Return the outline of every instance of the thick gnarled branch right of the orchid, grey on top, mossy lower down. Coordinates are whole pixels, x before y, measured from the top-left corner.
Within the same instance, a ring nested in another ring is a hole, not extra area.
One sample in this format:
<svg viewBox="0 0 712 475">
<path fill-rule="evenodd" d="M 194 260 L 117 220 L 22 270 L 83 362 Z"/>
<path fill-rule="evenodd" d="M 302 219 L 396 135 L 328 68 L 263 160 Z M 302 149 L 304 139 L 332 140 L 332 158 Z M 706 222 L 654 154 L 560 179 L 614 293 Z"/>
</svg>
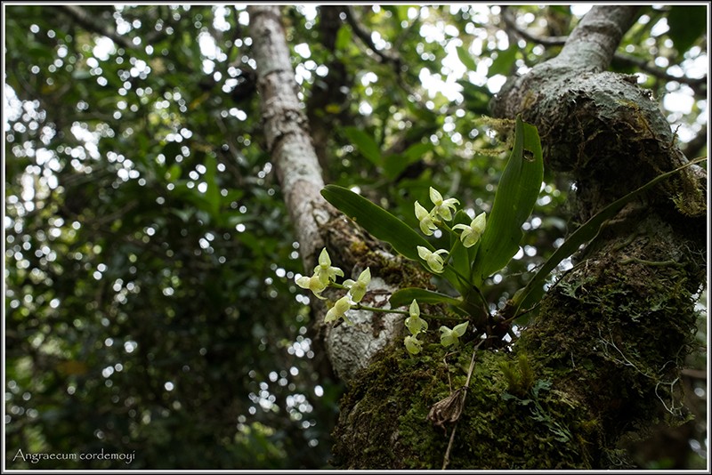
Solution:
<svg viewBox="0 0 712 475">
<path fill-rule="evenodd" d="M 594 7 L 557 58 L 512 78 L 492 103 L 496 115 L 522 113 L 537 125 L 547 166 L 572 173 L 575 221 L 685 163 L 658 104 L 635 77 L 601 72 L 634 19 L 632 7 Z M 619 213 L 587 253 L 576 256 L 586 265 L 546 295 L 541 315 L 517 342 L 519 350 L 538 352 L 547 367 L 569 366 L 559 387 L 596 414 L 606 439 L 649 423 L 651 400 L 663 386 L 667 399 L 659 401 L 680 415 L 679 405 L 669 401 L 696 321 L 692 294 L 704 285 L 704 183 L 691 167 Z M 651 310 L 651 292 L 665 295 L 662 314 Z M 653 319 L 638 326 L 638 313 Z M 595 345 L 574 343 L 585 341 Z M 577 358 L 597 360 L 595 372 L 581 368 Z M 595 389 L 579 389 L 582 380 Z M 619 395 L 621 387 L 635 391 Z"/>
</svg>

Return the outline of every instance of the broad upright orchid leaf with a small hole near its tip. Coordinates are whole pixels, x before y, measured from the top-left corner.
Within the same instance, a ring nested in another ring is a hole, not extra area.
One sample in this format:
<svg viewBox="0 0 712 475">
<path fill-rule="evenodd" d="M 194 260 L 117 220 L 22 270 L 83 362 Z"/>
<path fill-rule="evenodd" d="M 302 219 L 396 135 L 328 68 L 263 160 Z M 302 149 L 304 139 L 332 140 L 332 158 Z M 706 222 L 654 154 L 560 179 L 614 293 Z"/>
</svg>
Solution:
<svg viewBox="0 0 712 475">
<path fill-rule="evenodd" d="M 475 286 L 506 266 L 519 250 L 522 224 L 537 202 L 544 162 L 541 142 L 534 125 L 517 116 L 514 148 L 499 180 L 492 212 L 481 237 L 480 249 L 473 262 Z"/>
</svg>

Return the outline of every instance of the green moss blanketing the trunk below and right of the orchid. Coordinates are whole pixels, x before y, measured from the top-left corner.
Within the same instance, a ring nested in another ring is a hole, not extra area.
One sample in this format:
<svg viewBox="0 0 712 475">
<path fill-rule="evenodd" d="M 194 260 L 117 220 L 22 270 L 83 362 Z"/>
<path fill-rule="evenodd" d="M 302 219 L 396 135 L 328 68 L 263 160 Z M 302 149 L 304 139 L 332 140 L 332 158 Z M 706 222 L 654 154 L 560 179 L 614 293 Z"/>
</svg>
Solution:
<svg viewBox="0 0 712 475">
<path fill-rule="evenodd" d="M 611 241 L 570 272 L 514 353 L 478 351 L 450 469 L 626 467 L 623 434 L 655 423 L 663 404 L 685 420 L 674 382 L 693 342 L 699 276 L 687 262 L 650 265 L 676 252 L 674 237 L 656 229 L 654 240 Z M 396 345 L 357 375 L 334 433 L 336 466 L 441 468 L 453 424 L 427 416 L 465 383 L 473 342 L 446 356 L 437 334 L 428 338 L 417 357 Z"/>
</svg>

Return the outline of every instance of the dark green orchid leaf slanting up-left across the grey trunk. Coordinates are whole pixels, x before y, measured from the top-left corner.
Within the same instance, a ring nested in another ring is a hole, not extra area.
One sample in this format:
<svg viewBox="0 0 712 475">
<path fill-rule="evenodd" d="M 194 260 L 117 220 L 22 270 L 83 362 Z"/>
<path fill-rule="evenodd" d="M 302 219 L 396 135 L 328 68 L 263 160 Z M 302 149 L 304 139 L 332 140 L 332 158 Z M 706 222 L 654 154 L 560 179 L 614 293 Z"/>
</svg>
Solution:
<svg viewBox="0 0 712 475">
<path fill-rule="evenodd" d="M 422 262 L 417 255 L 417 246 L 435 250 L 415 229 L 351 189 L 327 185 L 321 190 L 321 195 L 374 238 L 387 242 L 397 252 L 413 261 Z"/>
</svg>

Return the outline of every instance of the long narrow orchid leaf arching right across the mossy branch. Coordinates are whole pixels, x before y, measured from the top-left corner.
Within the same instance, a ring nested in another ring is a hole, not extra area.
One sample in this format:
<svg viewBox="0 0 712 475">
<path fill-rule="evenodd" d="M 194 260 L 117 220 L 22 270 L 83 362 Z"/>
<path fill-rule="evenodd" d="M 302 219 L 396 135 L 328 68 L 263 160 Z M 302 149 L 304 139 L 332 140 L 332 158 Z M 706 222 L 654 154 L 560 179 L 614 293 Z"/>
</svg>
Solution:
<svg viewBox="0 0 712 475">
<path fill-rule="evenodd" d="M 626 196 L 620 197 L 619 199 L 611 203 L 611 205 L 608 205 L 603 208 L 603 210 L 599 211 L 598 213 L 595 213 L 594 216 L 592 216 L 588 221 L 586 221 L 583 225 L 581 225 L 578 229 L 571 233 L 570 237 L 567 238 L 563 242 L 562 246 L 556 249 L 554 254 L 552 254 L 546 260 L 544 265 L 539 268 L 537 273 L 534 275 L 533 278 L 531 278 L 527 285 L 518 290 L 516 294 L 514 294 L 514 297 L 512 299 L 514 305 L 513 315 L 517 314 L 519 308 L 522 306 L 522 302 L 526 300 L 527 296 L 534 289 L 544 285 L 546 276 L 548 276 L 549 273 L 554 270 L 556 266 L 559 265 L 559 263 L 561 263 L 564 259 L 578 251 L 578 248 L 581 245 L 593 240 L 598 235 L 598 232 L 601 229 L 601 226 L 603 225 L 604 221 L 610 220 L 621 209 L 623 209 L 623 206 L 627 205 L 632 199 L 641 195 L 644 191 L 651 189 L 651 187 L 657 184 L 659 181 L 665 180 L 668 176 L 675 174 L 690 165 L 695 165 L 700 162 L 703 162 L 704 160 L 707 160 L 707 157 L 701 157 L 696 160 L 692 160 L 691 162 L 685 165 L 677 167 L 675 170 L 672 170 L 667 173 L 662 173 L 653 178 L 651 181 L 645 183 L 639 189 L 631 191 Z"/>
</svg>

